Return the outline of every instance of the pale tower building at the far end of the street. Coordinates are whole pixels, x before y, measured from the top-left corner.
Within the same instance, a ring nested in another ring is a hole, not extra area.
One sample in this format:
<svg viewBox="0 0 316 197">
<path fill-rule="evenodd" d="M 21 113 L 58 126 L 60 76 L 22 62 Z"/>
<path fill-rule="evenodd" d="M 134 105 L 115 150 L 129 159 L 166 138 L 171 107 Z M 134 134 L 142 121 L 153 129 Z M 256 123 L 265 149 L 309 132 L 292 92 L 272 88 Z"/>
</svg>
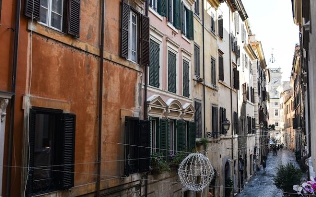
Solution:
<svg viewBox="0 0 316 197">
<path fill-rule="evenodd" d="M 268 91 L 270 96 L 269 103 L 269 125 L 275 125 L 276 132 L 280 131 L 281 114 L 280 114 L 280 93 L 277 87 L 282 82 L 282 72 L 280 66 L 276 63 L 276 59 L 271 54 L 268 68 L 270 70 L 270 82 L 268 83 Z M 278 132 L 280 134 L 280 132 Z"/>
</svg>

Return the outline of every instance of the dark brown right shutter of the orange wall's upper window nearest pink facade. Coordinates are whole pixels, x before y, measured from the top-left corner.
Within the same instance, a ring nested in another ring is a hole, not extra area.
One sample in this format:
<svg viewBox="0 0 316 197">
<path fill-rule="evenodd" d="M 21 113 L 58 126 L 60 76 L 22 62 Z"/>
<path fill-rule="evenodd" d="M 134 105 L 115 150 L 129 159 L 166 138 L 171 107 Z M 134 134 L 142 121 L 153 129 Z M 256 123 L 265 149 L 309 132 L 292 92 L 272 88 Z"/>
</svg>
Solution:
<svg viewBox="0 0 316 197">
<path fill-rule="evenodd" d="M 149 66 L 149 18 L 142 15 L 141 65 Z"/>
</svg>

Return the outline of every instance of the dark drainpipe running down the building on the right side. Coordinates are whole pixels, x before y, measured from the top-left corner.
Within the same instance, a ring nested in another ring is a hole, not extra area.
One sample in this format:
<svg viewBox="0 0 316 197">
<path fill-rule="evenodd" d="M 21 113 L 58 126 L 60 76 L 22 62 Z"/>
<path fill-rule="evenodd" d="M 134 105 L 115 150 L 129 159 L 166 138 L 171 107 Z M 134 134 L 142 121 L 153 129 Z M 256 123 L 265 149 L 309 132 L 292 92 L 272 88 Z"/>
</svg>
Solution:
<svg viewBox="0 0 316 197">
<path fill-rule="evenodd" d="M 301 159 L 301 163 L 303 164 L 303 166 L 307 169 L 307 175 L 308 175 L 308 179 L 310 179 L 310 167 L 309 165 L 305 164 L 305 160 L 311 157 L 311 151 L 312 151 L 312 140 L 311 140 L 311 108 L 310 108 L 310 81 L 309 81 L 309 71 L 308 71 L 308 62 L 307 62 L 307 66 L 306 66 L 306 72 L 307 72 L 307 107 L 308 107 L 308 154 L 304 155 Z"/>
</svg>

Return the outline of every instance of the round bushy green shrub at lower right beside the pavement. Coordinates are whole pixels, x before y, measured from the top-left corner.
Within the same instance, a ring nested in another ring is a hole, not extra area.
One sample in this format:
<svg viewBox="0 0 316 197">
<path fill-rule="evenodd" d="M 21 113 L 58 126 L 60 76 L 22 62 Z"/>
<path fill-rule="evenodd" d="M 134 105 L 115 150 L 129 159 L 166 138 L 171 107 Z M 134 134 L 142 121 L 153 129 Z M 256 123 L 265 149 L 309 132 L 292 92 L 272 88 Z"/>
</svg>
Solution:
<svg viewBox="0 0 316 197">
<path fill-rule="evenodd" d="M 293 193 L 293 185 L 299 184 L 301 177 L 301 170 L 295 167 L 293 163 L 281 164 L 276 167 L 274 181 L 278 189 L 283 190 L 283 192 Z"/>
</svg>

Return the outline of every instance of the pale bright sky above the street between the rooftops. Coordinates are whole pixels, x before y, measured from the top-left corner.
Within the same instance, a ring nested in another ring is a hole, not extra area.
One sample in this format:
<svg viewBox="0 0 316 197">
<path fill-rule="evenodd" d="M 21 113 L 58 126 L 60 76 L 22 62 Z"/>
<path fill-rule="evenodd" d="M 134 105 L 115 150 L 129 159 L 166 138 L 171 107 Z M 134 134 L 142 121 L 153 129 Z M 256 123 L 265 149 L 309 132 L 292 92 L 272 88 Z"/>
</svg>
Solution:
<svg viewBox="0 0 316 197">
<path fill-rule="evenodd" d="M 261 41 L 269 64 L 272 48 L 281 67 L 282 81 L 289 81 L 295 44 L 299 43 L 299 28 L 293 22 L 291 0 L 242 0 L 248 14 L 250 29 Z"/>
</svg>

